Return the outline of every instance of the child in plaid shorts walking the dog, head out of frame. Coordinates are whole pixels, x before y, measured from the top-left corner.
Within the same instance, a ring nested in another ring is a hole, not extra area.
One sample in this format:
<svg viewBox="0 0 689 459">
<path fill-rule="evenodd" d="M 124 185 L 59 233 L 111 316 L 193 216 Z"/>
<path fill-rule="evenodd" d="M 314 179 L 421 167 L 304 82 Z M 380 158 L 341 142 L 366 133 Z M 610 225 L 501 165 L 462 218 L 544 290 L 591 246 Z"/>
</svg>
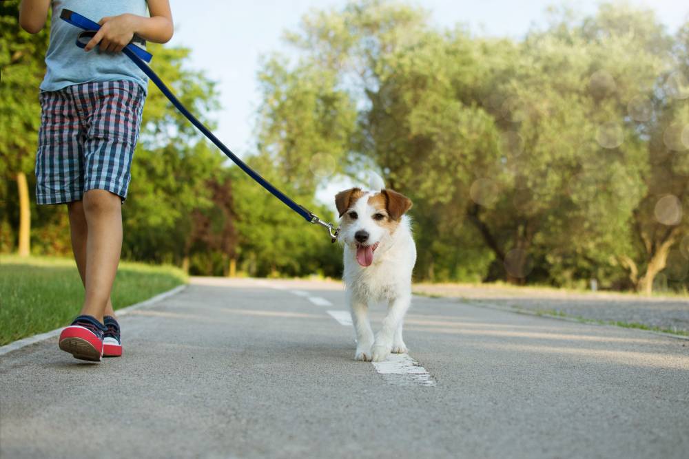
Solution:
<svg viewBox="0 0 689 459">
<path fill-rule="evenodd" d="M 60 335 L 60 349 L 100 361 L 122 354 L 110 292 L 147 86 L 145 74 L 120 51 L 134 34 L 169 41 L 172 14 L 168 0 L 22 0 L 21 28 L 39 32 L 51 6 L 36 198 L 38 204 L 67 204 L 72 251 L 86 290 L 79 317 Z M 101 29 L 84 50 L 74 44 L 81 30 L 59 19 L 63 8 L 100 19 Z"/>
</svg>

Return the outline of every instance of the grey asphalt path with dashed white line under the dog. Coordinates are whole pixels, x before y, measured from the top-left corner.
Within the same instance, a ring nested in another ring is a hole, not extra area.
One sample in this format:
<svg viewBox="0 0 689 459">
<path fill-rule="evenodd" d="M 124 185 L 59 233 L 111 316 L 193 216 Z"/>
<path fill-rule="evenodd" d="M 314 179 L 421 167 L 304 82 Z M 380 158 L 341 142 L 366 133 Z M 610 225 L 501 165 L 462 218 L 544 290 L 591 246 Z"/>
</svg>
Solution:
<svg viewBox="0 0 689 459">
<path fill-rule="evenodd" d="M 0 456 L 686 458 L 688 341 L 415 298 L 425 371 L 391 374 L 353 361 L 343 297 L 193 279 L 123 317 L 121 359 L 6 354 Z"/>
</svg>

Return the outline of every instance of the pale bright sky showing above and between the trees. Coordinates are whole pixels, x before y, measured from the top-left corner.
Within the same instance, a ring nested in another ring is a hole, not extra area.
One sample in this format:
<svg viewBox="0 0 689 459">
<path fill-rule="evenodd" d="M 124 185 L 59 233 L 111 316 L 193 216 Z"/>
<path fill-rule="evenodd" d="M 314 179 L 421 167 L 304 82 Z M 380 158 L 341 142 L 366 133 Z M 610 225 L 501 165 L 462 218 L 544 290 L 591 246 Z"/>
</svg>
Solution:
<svg viewBox="0 0 689 459">
<path fill-rule="evenodd" d="M 229 149 L 239 156 L 255 151 L 252 144 L 256 107 L 260 103 L 256 84 L 260 56 L 287 50 L 281 40 L 282 33 L 298 28 L 300 18 L 309 10 L 339 8 L 345 3 L 345 0 L 170 0 L 175 34 L 169 45 L 191 48 L 189 65 L 218 83 L 222 108 L 216 114 L 215 134 Z M 462 23 L 475 34 L 519 39 L 531 26 L 544 23 L 548 6 L 565 5 L 592 14 L 599 1 L 412 0 L 407 3 L 430 10 L 433 22 L 440 27 Z M 683 0 L 631 0 L 630 3 L 650 6 L 671 32 L 688 18 L 689 6 Z M 325 191 L 325 195 L 330 191 Z"/>
</svg>

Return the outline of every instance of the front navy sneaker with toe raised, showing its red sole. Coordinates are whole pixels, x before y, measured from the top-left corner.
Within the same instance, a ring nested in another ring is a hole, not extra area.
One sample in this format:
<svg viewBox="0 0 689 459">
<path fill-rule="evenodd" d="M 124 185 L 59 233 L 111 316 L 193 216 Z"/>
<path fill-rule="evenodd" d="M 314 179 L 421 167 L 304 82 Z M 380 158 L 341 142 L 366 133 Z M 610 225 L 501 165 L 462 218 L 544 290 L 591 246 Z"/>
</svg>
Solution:
<svg viewBox="0 0 689 459">
<path fill-rule="evenodd" d="M 75 359 L 92 362 L 101 361 L 103 356 L 103 332 L 107 328 L 92 316 L 79 316 L 72 325 L 60 334 L 60 349 L 69 352 Z"/>
</svg>

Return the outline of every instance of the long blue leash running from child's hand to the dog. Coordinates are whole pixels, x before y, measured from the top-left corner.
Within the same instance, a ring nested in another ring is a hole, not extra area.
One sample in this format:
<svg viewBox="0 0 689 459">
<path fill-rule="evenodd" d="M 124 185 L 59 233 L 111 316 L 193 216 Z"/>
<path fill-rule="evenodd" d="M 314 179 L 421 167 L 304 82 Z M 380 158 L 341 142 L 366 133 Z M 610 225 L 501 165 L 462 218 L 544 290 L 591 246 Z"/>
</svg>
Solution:
<svg viewBox="0 0 689 459">
<path fill-rule="evenodd" d="M 81 32 L 76 39 L 76 45 L 81 48 L 85 47 L 96 34 L 96 31 L 101 28 L 101 25 L 99 23 L 91 21 L 90 19 L 81 16 L 81 14 L 77 14 L 71 10 L 63 9 L 60 14 L 60 18 L 86 31 Z M 291 200 L 289 197 L 287 197 L 287 195 L 285 195 L 285 193 L 282 193 L 282 191 L 278 190 L 273 184 L 265 180 L 265 178 L 261 177 L 260 174 L 254 171 L 254 169 L 251 169 L 251 167 L 249 167 L 245 162 L 240 160 L 238 156 L 232 153 L 232 151 L 230 151 L 229 148 L 225 147 L 223 142 L 220 142 L 220 140 L 218 140 L 218 138 L 214 136 L 214 134 L 207 127 L 205 127 L 205 125 L 203 125 L 203 122 L 200 122 L 196 118 L 196 116 L 194 116 L 191 112 L 189 112 L 189 110 L 186 109 L 184 105 L 182 105 L 180 100 L 176 98 L 172 91 L 170 91 L 170 89 L 165 85 L 165 83 L 163 83 L 163 81 L 156 74 L 156 72 L 154 72 L 151 69 L 151 67 L 147 65 L 147 63 L 150 62 L 151 58 L 153 57 L 152 54 L 150 54 L 150 52 L 143 50 L 142 48 L 134 45 L 133 43 L 130 43 L 127 46 L 125 46 L 122 52 L 126 54 L 127 57 L 130 58 L 132 62 L 134 62 L 136 66 L 140 68 L 141 71 L 148 76 L 148 78 L 151 79 L 151 81 L 153 81 L 153 83 L 156 84 L 158 89 L 160 89 L 161 92 L 165 94 L 165 97 L 167 97 L 167 99 L 170 102 L 172 102 L 172 105 L 174 105 L 176 109 L 178 109 L 181 112 L 181 114 L 183 114 L 187 118 L 187 120 L 192 122 L 192 125 L 196 126 L 196 128 L 199 131 L 201 131 L 201 133 L 203 133 L 204 136 L 209 138 L 209 140 L 211 140 L 211 142 L 213 142 L 216 145 L 216 147 L 220 149 L 220 151 L 225 153 L 227 158 L 234 161 L 234 163 L 237 164 L 237 166 L 240 169 L 245 171 L 245 173 L 247 173 L 249 177 L 256 180 L 256 182 L 258 182 L 260 186 L 263 186 L 263 188 L 267 189 L 272 195 L 274 195 L 280 201 L 285 203 L 290 209 L 301 215 L 301 217 L 303 217 L 307 222 L 318 224 L 320 226 L 325 226 L 325 228 L 327 228 L 328 230 L 332 242 L 336 241 L 338 237 L 339 228 L 336 228 L 331 223 L 323 222 L 317 215 L 310 212 L 304 206 L 300 206 L 299 204 Z"/>
</svg>

